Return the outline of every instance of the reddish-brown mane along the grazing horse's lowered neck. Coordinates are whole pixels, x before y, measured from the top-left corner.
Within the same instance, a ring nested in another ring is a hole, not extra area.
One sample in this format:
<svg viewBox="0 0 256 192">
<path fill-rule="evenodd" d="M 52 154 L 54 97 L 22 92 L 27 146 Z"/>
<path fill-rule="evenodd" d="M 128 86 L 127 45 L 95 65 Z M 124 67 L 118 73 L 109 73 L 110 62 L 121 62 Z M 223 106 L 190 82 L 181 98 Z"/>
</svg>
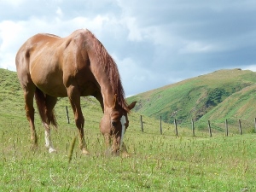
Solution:
<svg viewBox="0 0 256 192">
<path fill-rule="evenodd" d="M 118 67 L 102 43 L 92 33 L 91 35 L 93 38 L 97 61 L 102 67 L 104 67 L 104 71 L 108 75 L 108 80 L 113 91 L 112 94 L 113 96 L 117 94 L 117 102 L 119 103 L 119 106 L 124 108 L 125 111 L 129 113 L 130 109 L 128 108 L 127 102 L 125 101 L 125 90 L 120 79 Z"/>
</svg>

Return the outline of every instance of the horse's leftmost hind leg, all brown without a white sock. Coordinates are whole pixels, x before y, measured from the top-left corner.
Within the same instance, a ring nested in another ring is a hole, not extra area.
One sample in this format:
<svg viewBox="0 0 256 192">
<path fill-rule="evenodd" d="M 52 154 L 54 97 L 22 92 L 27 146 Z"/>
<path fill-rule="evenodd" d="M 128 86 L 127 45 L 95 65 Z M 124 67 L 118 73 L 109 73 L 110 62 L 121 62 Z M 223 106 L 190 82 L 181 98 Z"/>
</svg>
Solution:
<svg viewBox="0 0 256 192">
<path fill-rule="evenodd" d="M 35 93 L 35 89 L 36 87 L 34 84 L 26 84 L 23 86 L 26 118 L 28 119 L 30 128 L 31 128 L 32 148 L 38 147 L 38 136 L 37 136 L 35 124 L 34 124 L 35 109 L 33 108 L 33 96 Z"/>
</svg>

